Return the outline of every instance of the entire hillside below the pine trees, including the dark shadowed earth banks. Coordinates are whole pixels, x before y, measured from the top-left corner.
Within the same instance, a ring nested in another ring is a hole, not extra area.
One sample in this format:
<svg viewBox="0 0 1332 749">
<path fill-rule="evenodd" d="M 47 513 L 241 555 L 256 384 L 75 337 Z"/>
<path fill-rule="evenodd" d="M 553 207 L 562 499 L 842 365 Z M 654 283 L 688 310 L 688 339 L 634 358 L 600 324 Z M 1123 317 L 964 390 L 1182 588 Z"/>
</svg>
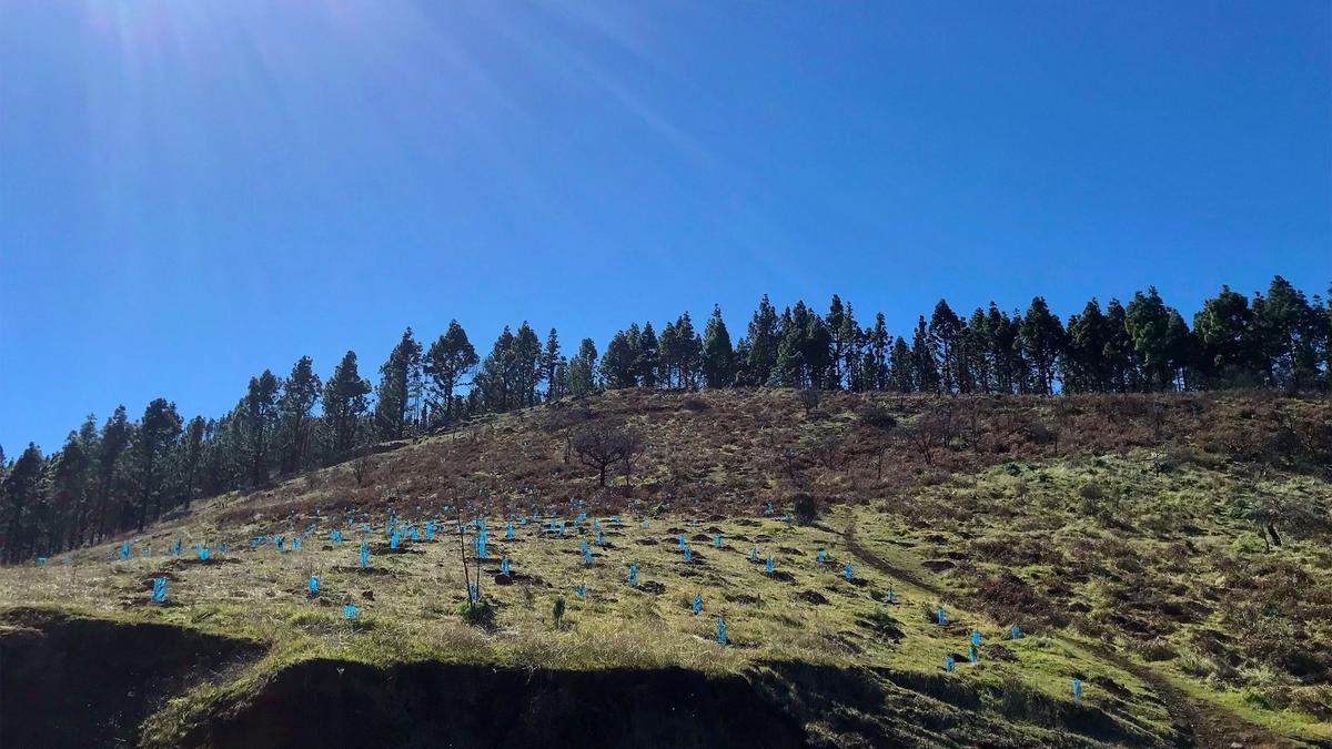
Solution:
<svg viewBox="0 0 1332 749">
<path fill-rule="evenodd" d="M 378 450 L 0 569 L 0 744 L 1332 744 L 1325 398 L 623 389 Z"/>
</svg>

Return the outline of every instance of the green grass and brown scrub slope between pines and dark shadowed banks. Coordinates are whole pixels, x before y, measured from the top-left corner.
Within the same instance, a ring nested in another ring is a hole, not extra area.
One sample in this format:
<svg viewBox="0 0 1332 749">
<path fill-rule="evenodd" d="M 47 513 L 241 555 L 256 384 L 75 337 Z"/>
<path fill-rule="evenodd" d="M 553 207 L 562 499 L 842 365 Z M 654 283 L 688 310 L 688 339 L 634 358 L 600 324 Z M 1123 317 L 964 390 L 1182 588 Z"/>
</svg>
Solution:
<svg viewBox="0 0 1332 749">
<path fill-rule="evenodd" d="M 935 406 L 926 398 L 876 401 L 903 422 Z M 1329 634 L 1327 538 L 1292 536 L 1264 553 L 1252 528 L 1235 517 L 1255 492 L 1313 497 L 1327 517 L 1323 480 L 1288 472 L 1299 468 L 1293 462 L 1275 469 L 1280 460 L 1265 460 L 1261 472 L 1255 464 L 1271 454 L 1279 425 L 1295 420 L 1301 433 L 1299 420 L 1325 420 L 1327 402 L 1078 398 L 1066 408 L 978 398 L 959 402 L 963 434 L 928 462 L 910 441 L 863 425 L 858 413 L 867 405 L 836 396 L 803 414 L 790 393 L 611 393 L 509 414 L 377 456 L 361 485 L 344 465 L 221 497 L 136 538 L 136 553 L 153 549 L 148 558 L 113 561 L 112 546 L 101 546 L 73 554 L 69 565 L 0 570 L 0 600 L 168 621 L 272 645 L 238 678 L 205 682 L 152 718 L 148 736 L 164 744 L 196 712 L 224 709 L 284 664 L 316 656 L 575 669 L 685 665 L 750 674 L 774 661 L 868 666 L 879 670 L 867 678 L 883 685 L 894 705 L 906 705 L 910 696 L 894 685 L 914 684 L 928 697 L 939 697 L 940 688 L 902 674 L 935 678 L 947 654 L 966 653 L 974 626 L 987 642 L 982 662 L 963 660 L 948 681 L 978 694 L 984 714 L 1004 724 L 1015 742 L 1056 741 L 1048 726 L 1060 721 L 1048 716 L 1074 709 L 1075 674 L 1087 682 L 1083 708 L 1103 710 L 1124 732 L 1169 734 L 1181 708 L 1158 700 L 1159 680 L 1168 680 L 1203 718 L 1219 720 L 1213 728 L 1223 733 L 1256 724 L 1259 741 L 1332 740 L 1320 713 L 1328 708 L 1325 673 L 1291 673 L 1303 662 L 1292 648 Z M 567 429 L 595 418 L 645 430 L 649 449 L 627 489 L 590 490 L 589 472 L 563 462 Z M 831 460 L 821 449 L 829 444 Z M 767 501 L 778 516 L 786 512 L 783 489 L 793 478 L 843 502 L 811 528 L 763 516 Z M 1088 484 L 1100 490 L 1084 490 Z M 490 497 L 486 508 L 453 498 L 482 493 Z M 571 520 L 570 496 L 583 497 L 589 514 L 606 524 L 609 548 L 594 546 L 593 565 L 577 553 L 579 540 L 595 538 L 587 526 L 553 537 L 519 525 L 514 542 L 502 540 L 507 510 L 530 514 L 535 504 L 543 517 Z M 410 553 L 385 549 L 388 505 L 424 520 L 464 502 L 490 517 L 496 561 L 488 570 L 497 572 L 507 554 L 517 573 L 535 578 L 513 586 L 485 578 L 484 592 L 501 606 L 494 632 L 452 613 L 465 597 L 456 537 L 410 545 Z M 348 532 L 341 545 L 326 541 L 349 506 L 370 512 L 372 566 L 380 573 L 356 569 L 360 533 Z M 314 508 L 322 512 L 316 516 Z M 611 512 L 625 517 L 623 528 L 606 522 Z M 290 536 L 310 524 L 298 552 L 249 548 L 254 536 Z M 858 553 L 848 548 L 848 529 Z M 702 561 L 682 562 L 679 532 Z M 713 548 L 717 532 L 729 548 Z M 221 538 L 232 550 L 210 565 L 163 558 L 174 538 L 186 548 Z M 771 553 L 793 580 L 766 577 L 749 561 L 753 548 Z M 818 549 L 834 561 L 819 566 Z M 665 593 L 626 586 L 629 561 L 639 565 L 641 584 L 661 582 Z M 855 564 L 858 584 L 839 576 L 844 561 Z M 173 577 L 173 605 L 144 605 L 160 573 Z M 313 598 L 305 594 L 310 573 L 322 581 Z M 573 594 L 578 582 L 589 586 L 586 600 Z M 883 601 L 890 588 L 896 605 Z M 698 617 L 689 609 L 695 592 L 705 600 Z M 810 593 L 827 602 L 810 602 Z M 555 597 L 569 605 L 563 629 L 550 621 Z M 340 620 L 344 602 L 364 608 L 357 624 Z M 948 628 L 926 620 L 924 609 L 936 604 L 948 608 Z M 715 644 L 718 616 L 735 646 Z M 995 648 L 1015 621 L 1028 636 Z M 883 636 L 886 625 L 900 630 L 900 641 Z M 946 702 L 926 709 L 952 714 Z M 830 742 L 864 734 L 856 721 L 875 717 L 855 713 L 807 716 L 811 733 Z M 948 730 L 920 740 L 967 740 Z"/>
</svg>

